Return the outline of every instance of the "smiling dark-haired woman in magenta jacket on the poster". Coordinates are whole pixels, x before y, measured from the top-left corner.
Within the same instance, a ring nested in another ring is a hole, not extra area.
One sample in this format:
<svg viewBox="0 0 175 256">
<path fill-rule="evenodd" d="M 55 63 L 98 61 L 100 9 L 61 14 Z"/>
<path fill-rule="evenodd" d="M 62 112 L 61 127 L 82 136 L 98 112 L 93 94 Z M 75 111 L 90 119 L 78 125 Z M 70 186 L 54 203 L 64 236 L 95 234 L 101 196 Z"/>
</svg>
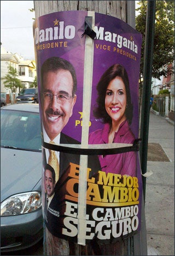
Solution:
<svg viewBox="0 0 175 256">
<path fill-rule="evenodd" d="M 94 116 L 104 123 L 103 129 L 89 135 L 89 144 L 133 143 L 129 124 L 132 122 L 132 103 L 129 78 L 120 64 L 110 66 L 97 84 L 98 98 Z M 106 173 L 136 176 L 136 152 L 99 155 L 101 169 Z"/>
</svg>

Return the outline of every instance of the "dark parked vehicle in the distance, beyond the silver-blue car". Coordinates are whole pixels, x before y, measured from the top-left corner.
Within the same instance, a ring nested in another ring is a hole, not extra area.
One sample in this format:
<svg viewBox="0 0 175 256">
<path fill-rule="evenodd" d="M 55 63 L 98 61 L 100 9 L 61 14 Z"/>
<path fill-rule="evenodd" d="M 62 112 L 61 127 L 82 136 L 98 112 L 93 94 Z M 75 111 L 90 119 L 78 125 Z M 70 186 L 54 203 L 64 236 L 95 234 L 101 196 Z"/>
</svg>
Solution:
<svg viewBox="0 0 175 256">
<path fill-rule="evenodd" d="M 38 88 L 22 89 L 16 97 L 16 103 L 38 103 Z"/>
</svg>

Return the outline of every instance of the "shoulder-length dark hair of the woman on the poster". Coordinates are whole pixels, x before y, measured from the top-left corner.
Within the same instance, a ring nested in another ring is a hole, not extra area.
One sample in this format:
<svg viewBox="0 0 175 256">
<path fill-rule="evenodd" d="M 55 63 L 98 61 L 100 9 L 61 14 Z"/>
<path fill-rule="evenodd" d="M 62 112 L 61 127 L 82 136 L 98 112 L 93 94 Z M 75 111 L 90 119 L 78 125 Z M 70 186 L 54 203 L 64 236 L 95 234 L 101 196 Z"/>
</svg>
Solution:
<svg viewBox="0 0 175 256">
<path fill-rule="evenodd" d="M 126 115 L 127 121 L 129 122 L 129 124 L 131 124 L 132 116 L 133 116 L 133 105 L 131 103 L 129 78 L 128 78 L 126 70 L 120 64 L 114 64 L 113 66 L 110 66 L 109 69 L 106 70 L 103 73 L 102 77 L 100 78 L 100 81 L 97 84 L 98 98 L 96 100 L 97 106 L 93 111 L 94 116 L 96 118 L 101 119 L 103 123 L 112 124 L 111 117 L 106 112 L 105 96 L 106 96 L 106 90 L 107 90 L 108 84 L 115 77 L 120 77 L 125 84 L 126 103 L 127 103 L 125 115 Z"/>
</svg>

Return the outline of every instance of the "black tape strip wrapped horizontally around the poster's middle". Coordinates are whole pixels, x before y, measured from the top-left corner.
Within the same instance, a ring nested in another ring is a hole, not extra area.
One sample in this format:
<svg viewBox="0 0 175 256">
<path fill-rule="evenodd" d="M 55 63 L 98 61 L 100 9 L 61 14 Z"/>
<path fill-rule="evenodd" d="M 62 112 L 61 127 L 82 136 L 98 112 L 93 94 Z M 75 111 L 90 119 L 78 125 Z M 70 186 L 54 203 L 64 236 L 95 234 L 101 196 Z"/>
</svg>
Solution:
<svg viewBox="0 0 175 256">
<path fill-rule="evenodd" d="M 132 146 L 115 147 L 114 149 L 77 149 L 75 147 L 65 147 L 65 146 L 45 143 L 43 141 L 43 147 L 45 147 L 46 149 L 51 149 L 55 151 L 65 152 L 65 153 L 71 153 L 75 155 L 95 156 L 95 155 L 113 155 L 113 154 L 125 153 L 130 151 L 139 151 L 140 142 L 141 142 L 141 139 L 136 139 Z"/>
</svg>

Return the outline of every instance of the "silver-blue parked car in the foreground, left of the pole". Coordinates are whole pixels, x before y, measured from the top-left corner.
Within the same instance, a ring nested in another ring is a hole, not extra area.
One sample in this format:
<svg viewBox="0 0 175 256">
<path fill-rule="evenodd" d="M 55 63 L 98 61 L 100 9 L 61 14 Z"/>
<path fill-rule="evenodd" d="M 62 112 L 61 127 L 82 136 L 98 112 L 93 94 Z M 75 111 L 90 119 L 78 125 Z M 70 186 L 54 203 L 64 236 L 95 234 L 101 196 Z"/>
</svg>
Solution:
<svg viewBox="0 0 175 256">
<path fill-rule="evenodd" d="M 38 104 L 1 108 L 1 252 L 43 237 L 40 134 Z"/>
</svg>

